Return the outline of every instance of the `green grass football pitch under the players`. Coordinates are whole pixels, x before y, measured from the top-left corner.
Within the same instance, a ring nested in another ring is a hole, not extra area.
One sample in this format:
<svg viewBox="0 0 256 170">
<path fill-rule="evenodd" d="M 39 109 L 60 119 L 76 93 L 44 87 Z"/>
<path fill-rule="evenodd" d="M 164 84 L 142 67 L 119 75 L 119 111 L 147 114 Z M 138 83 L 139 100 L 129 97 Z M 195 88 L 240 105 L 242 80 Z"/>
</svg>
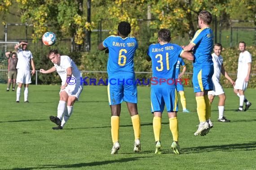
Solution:
<svg viewBox="0 0 256 170">
<path fill-rule="evenodd" d="M 207 136 L 194 136 L 199 123 L 192 88 L 185 88 L 187 108 L 178 113 L 181 154 L 171 150 L 168 116 L 162 119 L 163 154 L 155 155 L 150 87 L 138 87 L 141 117 L 141 153 L 133 153 L 133 130 L 126 104 L 122 104 L 117 155 L 111 155 L 110 108 L 106 86 L 85 86 L 73 115 L 63 130 L 54 131 L 49 115 L 57 115 L 59 86 L 31 85 L 30 103 L 16 103 L 16 92 L 6 92 L 0 84 L 0 170 L 57 169 L 256 169 L 255 89 L 247 89 L 252 106 L 234 112 L 238 97 L 225 89 L 225 116 L 230 123 L 217 122 L 218 98 L 212 104 L 214 128 Z M 22 88 L 23 91 L 23 88 Z M 181 105 L 180 109 L 181 109 Z"/>
</svg>

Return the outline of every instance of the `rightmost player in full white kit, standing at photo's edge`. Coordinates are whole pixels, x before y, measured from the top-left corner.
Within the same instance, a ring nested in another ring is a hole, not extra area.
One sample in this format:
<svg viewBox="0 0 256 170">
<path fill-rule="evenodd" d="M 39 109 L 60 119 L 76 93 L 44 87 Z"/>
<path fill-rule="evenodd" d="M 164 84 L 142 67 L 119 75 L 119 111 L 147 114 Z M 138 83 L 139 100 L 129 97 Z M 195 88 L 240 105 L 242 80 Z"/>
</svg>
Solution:
<svg viewBox="0 0 256 170">
<path fill-rule="evenodd" d="M 239 108 L 236 111 L 246 111 L 252 106 L 244 95 L 247 89 L 248 81 L 252 70 L 252 55 L 245 50 L 246 44 L 241 41 L 238 43 L 239 51 L 241 52 L 238 59 L 237 79 L 235 81 L 234 93 L 239 97 Z M 243 102 L 245 102 L 245 109 L 243 110 Z"/>
</svg>

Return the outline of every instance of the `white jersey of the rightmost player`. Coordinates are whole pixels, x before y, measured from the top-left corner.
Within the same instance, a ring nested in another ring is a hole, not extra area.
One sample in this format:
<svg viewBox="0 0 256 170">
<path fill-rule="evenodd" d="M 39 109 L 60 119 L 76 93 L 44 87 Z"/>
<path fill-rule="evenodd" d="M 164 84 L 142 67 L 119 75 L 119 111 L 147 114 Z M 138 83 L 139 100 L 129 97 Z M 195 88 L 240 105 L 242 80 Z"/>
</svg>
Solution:
<svg viewBox="0 0 256 170">
<path fill-rule="evenodd" d="M 239 55 L 237 78 L 245 78 L 248 73 L 248 63 L 252 63 L 252 55 L 248 51 L 243 51 Z"/>
</svg>

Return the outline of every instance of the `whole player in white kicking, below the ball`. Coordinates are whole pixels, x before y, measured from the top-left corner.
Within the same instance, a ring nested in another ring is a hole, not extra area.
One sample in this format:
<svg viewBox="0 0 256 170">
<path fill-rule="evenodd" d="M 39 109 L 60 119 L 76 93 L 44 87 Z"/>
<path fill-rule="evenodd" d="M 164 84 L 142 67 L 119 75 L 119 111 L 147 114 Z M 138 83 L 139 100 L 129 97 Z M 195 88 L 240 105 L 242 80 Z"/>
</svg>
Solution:
<svg viewBox="0 0 256 170">
<path fill-rule="evenodd" d="M 57 116 L 50 116 L 50 120 L 57 124 L 57 127 L 53 127 L 53 129 L 58 130 L 62 129 L 70 118 L 73 112 L 73 105 L 79 99 L 83 90 L 83 84 L 80 84 L 82 73 L 69 56 L 60 55 L 55 49 L 49 51 L 48 57 L 54 66 L 46 71 L 40 69 L 40 72 L 47 74 L 57 71 L 62 79 Z"/>
</svg>

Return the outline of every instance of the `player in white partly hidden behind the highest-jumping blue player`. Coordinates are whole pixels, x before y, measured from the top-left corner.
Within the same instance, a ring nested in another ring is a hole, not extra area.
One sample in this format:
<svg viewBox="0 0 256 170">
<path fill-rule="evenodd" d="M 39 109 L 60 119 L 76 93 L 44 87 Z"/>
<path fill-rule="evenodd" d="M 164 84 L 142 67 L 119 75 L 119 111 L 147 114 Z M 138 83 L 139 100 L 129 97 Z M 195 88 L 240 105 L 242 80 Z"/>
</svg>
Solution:
<svg viewBox="0 0 256 170">
<path fill-rule="evenodd" d="M 213 102 L 213 99 L 215 96 L 219 96 L 219 117 L 218 122 L 230 122 L 230 120 L 226 119 L 224 116 L 224 106 L 225 106 L 225 92 L 220 84 L 220 78 L 221 74 L 226 77 L 230 81 L 230 83 L 234 86 L 235 82 L 230 78 L 228 73 L 226 72 L 224 66 L 223 66 L 223 57 L 221 56 L 222 51 L 222 45 L 220 43 L 216 43 L 213 46 L 212 53 L 212 61 L 213 61 L 213 67 L 214 67 L 214 73 L 212 76 L 212 83 L 213 83 L 213 90 L 208 91 L 208 98 L 210 102 Z"/>
</svg>

